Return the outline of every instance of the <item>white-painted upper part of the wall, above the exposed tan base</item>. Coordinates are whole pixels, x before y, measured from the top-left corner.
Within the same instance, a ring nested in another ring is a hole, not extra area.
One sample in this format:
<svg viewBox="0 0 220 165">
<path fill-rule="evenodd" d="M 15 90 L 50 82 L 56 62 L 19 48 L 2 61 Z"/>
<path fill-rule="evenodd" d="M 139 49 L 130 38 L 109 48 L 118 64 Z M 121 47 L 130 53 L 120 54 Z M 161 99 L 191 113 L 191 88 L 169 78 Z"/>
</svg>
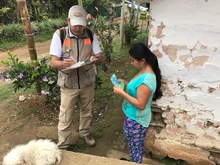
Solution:
<svg viewBox="0 0 220 165">
<path fill-rule="evenodd" d="M 200 118 L 220 122 L 219 5 L 218 0 L 151 2 L 150 48 L 169 80 L 157 105 L 202 110 Z"/>
</svg>

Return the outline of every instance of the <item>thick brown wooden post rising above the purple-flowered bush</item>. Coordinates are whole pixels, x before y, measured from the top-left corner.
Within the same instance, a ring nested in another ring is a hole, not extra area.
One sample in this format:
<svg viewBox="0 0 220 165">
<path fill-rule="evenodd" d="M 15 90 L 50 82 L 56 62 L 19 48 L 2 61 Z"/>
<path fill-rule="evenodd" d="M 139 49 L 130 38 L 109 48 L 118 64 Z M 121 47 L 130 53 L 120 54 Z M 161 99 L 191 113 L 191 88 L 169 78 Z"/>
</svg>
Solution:
<svg viewBox="0 0 220 165">
<path fill-rule="evenodd" d="M 17 0 L 18 10 L 21 15 L 21 20 L 24 28 L 24 34 L 26 36 L 28 51 L 31 60 L 37 60 L 37 53 L 34 44 L 34 34 L 31 29 L 30 18 L 28 14 L 26 0 Z"/>
</svg>

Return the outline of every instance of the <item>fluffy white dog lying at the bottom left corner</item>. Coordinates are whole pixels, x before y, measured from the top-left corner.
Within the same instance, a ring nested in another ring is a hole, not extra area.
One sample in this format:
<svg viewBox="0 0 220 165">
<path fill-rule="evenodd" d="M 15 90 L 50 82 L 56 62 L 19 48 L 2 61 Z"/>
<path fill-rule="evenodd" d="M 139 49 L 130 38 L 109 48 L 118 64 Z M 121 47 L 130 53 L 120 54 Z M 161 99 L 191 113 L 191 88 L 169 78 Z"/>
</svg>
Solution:
<svg viewBox="0 0 220 165">
<path fill-rule="evenodd" d="M 54 165 L 61 161 L 61 154 L 49 139 L 32 140 L 13 148 L 4 156 L 2 165 Z"/>
</svg>

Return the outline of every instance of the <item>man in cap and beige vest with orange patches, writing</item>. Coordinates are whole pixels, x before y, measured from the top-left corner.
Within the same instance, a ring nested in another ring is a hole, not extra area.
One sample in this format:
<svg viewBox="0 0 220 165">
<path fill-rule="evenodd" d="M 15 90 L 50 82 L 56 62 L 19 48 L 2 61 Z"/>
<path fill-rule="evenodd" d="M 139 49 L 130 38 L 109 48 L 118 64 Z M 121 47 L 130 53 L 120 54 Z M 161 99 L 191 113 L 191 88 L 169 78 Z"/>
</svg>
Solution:
<svg viewBox="0 0 220 165">
<path fill-rule="evenodd" d="M 58 123 L 58 147 L 67 149 L 70 145 L 71 123 L 76 103 L 79 103 L 79 135 L 89 146 L 95 145 L 90 134 L 92 104 L 94 99 L 95 65 L 102 63 L 101 49 L 96 34 L 91 36 L 86 29 L 86 11 L 82 6 L 72 6 L 65 27 L 65 39 L 61 41 L 58 29 L 50 46 L 51 66 L 58 69 L 58 85 L 61 91 L 61 105 Z M 91 31 L 90 31 L 91 32 Z M 66 69 L 76 62 L 87 63 L 75 69 Z"/>
</svg>

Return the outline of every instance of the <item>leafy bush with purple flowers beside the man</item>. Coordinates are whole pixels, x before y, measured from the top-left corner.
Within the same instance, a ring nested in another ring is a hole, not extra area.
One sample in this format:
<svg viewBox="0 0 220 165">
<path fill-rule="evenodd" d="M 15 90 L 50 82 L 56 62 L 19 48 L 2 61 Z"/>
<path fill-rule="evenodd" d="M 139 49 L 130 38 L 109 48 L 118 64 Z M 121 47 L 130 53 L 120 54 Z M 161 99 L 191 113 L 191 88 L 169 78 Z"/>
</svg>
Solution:
<svg viewBox="0 0 220 165">
<path fill-rule="evenodd" d="M 16 55 L 8 51 L 8 60 L 2 61 L 7 69 L 1 74 L 2 78 L 11 81 L 14 91 L 20 88 L 28 89 L 36 83 L 41 87 L 41 95 L 51 105 L 59 103 L 59 87 L 57 86 L 57 70 L 51 68 L 47 58 L 24 63 Z"/>
</svg>

